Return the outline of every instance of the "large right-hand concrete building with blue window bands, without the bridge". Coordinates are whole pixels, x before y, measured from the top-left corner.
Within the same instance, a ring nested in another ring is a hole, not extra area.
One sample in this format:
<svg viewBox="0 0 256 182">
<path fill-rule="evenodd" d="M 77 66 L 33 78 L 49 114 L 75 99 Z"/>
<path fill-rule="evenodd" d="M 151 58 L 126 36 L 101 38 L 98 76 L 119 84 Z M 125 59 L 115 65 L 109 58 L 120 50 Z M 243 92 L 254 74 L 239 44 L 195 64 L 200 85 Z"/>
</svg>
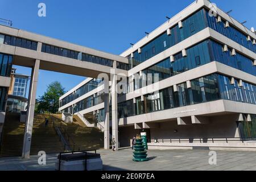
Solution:
<svg viewBox="0 0 256 182">
<path fill-rule="evenodd" d="M 208 1 L 192 3 L 121 54 L 129 65 L 122 65 L 128 71 L 127 93 L 117 98 L 120 147 L 130 146 L 141 130 L 151 148 L 191 148 L 200 146 L 200 138 L 207 147 L 226 138 L 255 139 L 255 32 L 218 8 L 214 15 L 210 7 Z M 143 85 L 148 74 L 152 82 Z M 97 83 L 88 78 L 69 90 L 59 111 L 104 126 Z"/>
</svg>

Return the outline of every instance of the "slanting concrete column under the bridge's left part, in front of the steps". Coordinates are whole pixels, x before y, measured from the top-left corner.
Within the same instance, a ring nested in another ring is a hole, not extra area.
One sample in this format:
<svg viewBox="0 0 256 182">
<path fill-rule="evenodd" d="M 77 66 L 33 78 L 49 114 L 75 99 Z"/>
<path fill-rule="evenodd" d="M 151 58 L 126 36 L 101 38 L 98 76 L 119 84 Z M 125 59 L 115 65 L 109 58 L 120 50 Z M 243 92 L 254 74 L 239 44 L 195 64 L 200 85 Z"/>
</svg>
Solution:
<svg viewBox="0 0 256 182">
<path fill-rule="evenodd" d="M 39 66 L 40 66 L 40 60 L 36 60 L 35 65 L 32 68 L 32 75 L 31 75 L 31 81 L 30 81 L 30 94 L 28 96 L 27 121 L 26 121 L 24 140 L 23 140 L 22 157 L 25 159 L 30 158 L 30 146 L 31 146 L 33 122 L 34 122 L 36 87 L 38 85 Z"/>
</svg>

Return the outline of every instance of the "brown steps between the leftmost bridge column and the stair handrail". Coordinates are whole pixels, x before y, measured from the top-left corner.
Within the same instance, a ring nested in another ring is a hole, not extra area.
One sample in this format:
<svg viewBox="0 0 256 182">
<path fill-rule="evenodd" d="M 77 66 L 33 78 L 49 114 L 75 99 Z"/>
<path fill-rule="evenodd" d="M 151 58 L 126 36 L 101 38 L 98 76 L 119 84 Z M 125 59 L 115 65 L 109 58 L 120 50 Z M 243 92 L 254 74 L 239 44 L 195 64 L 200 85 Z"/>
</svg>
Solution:
<svg viewBox="0 0 256 182">
<path fill-rule="evenodd" d="M 45 127 L 45 118 L 49 118 L 48 127 Z M 31 140 L 31 155 L 37 155 L 39 151 L 45 151 L 46 154 L 63 152 L 64 145 L 60 142 L 51 117 L 44 114 L 36 114 Z"/>
</svg>

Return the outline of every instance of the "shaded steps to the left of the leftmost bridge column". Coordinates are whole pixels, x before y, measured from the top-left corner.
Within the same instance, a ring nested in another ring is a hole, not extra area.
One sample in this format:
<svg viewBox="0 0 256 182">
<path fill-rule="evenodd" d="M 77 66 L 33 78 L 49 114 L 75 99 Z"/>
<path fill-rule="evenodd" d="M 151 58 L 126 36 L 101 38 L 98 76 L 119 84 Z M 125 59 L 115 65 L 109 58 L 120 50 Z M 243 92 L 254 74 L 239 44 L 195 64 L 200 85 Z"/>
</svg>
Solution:
<svg viewBox="0 0 256 182">
<path fill-rule="evenodd" d="M 0 157 L 22 155 L 24 129 L 25 123 L 19 122 L 19 114 L 6 114 L 0 145 Z"/>
</svg>

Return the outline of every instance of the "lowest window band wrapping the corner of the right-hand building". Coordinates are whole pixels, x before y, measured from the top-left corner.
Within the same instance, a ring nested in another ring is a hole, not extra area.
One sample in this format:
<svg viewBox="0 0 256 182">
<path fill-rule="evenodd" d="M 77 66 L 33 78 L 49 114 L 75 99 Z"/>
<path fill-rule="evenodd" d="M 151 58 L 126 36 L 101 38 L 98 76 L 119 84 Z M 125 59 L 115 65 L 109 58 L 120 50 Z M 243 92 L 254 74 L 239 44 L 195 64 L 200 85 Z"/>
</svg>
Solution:
<svg viewBox="0 0 256 182">
<path fill-rule="evenodd" d="M 191 88 L 184 82 L 177 85 L 177 92 L 170 86 L 143 97 L 144 101 L 141 97 L 135 98 L 135 104 L 133 100 L 119 103 L 118 117 L 130 117 L 220 99 L 256 104 L 256 85 L 243 82 L 243 86 L 238 86 L 238 80 L 235 79 L 235 84 L 232 84 L 230 77 L 215 73 L 192 80 Z"/>
</svg>

